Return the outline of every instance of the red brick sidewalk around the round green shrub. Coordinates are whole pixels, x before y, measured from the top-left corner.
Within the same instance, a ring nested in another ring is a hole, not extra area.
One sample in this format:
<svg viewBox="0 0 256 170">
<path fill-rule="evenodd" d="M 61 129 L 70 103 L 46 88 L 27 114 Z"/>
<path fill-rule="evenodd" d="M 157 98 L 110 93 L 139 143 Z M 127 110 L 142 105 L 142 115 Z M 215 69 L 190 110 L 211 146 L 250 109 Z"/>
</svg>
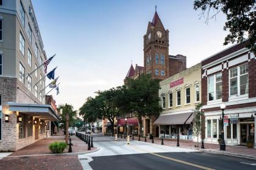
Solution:
<svg viewBox="0 0 256 170">
<path fill-rule="evenodd" d="M 65 149 L 64 154 L 52 154 L 49 150 L 49 144 L 54 141 L 65 141 L 63 134 L 44 138 L 37 141 L 23 149 L 20 149 L 13 154 L 8 155 L 0 160 L 0 167 L 10 170 L 21 169 L 83 169 L 77 157 L 79 154 L 96 151 L 98 148 L 91 148 L 87 150 L 88 145 L 77 138 L 75 135 L 70 136 L 73 143 L 73 152 L 68 155 L 68 148 Z"/>
</svg>

